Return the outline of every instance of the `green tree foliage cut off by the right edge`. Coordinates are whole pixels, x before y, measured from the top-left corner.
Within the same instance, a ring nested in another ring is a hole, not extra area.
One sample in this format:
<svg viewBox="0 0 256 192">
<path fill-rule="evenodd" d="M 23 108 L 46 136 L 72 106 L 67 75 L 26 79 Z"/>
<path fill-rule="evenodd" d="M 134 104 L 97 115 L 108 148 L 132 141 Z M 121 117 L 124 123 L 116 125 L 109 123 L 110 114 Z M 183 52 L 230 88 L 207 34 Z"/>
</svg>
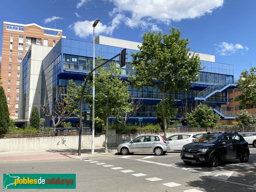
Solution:
<svg viewBox="0 0 256 192">
<path fill-rule="evenodd" d="M 256 67 L 252 67 L 250 71 L 243 70 L 241 75 L 243 78 L 238 80 L 237 86 L 240 90 L 244 90 L 241 95 L 236 96 L 235 101 L 239 101 L 240 106 L 247 107 L 256 104 Z"/>
</svg>

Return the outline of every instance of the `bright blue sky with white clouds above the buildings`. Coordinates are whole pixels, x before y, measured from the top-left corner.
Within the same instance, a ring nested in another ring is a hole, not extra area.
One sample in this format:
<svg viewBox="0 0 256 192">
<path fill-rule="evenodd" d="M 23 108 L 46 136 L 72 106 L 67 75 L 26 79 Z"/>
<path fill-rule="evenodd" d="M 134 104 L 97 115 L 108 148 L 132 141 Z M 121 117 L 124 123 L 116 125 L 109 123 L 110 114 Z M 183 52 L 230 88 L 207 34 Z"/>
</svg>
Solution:
<svg viewBox="0 0 256 192">
<path fill-rule="evenodd" d="M 0 18 L 1 25 L 7 21 L 46 28 L 54 28 L 56 20 L 64 36 L 87 42 L 93 40 L 95 19 L 100 20 L 95 37 L 135 42 L 142 42 L 149 30 L 165 34 L 179 27 L 181 37 L 189 38 L 190 51 L 234 65 L 239 78 L 243 69 L 256 66 L 255 8 L 255 0 L 12 0 L 1 1 Z"/>
</svg>

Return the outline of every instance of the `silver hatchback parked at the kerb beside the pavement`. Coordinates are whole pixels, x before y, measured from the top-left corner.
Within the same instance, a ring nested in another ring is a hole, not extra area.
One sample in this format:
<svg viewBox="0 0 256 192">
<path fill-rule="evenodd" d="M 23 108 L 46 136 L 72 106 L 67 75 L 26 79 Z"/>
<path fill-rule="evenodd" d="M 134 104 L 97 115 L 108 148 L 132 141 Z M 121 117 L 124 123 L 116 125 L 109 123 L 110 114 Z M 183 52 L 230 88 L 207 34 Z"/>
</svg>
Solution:
<svg viewBox="0 0 256 192">
<path fill-rule="evenodd" d="M 170 142 L 164 135 L 141 135 L 117 147 L 117 152 L 121 155 L 154 152 L 157 156 L 160 156 L 169 150 Z"/>
</svg>

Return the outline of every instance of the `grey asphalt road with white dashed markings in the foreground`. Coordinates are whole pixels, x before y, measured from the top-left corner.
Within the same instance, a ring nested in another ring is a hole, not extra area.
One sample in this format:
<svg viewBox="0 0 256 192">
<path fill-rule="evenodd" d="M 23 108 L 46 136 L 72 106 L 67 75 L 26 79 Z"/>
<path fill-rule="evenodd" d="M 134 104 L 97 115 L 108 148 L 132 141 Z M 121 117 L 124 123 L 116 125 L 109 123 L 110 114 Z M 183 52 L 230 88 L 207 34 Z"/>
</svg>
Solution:
<svg viewBox="0 0 256 192">
<path fill-rule="evenodd" d="M 256 148 L 253 147 L 250 147 L 247 163 L 236 159 L 221 162 L 215 168 L 200 163 L 186 165 L 178 151 L 164 156 L 155 156 L 154 153 L 116 154 L 88 159 L 1 162 L 0 165 L 0 180 L 3 180 L 3 173 L 76 173 L 76 189 L 47 191 L 256 191 Z"/>
</svg>

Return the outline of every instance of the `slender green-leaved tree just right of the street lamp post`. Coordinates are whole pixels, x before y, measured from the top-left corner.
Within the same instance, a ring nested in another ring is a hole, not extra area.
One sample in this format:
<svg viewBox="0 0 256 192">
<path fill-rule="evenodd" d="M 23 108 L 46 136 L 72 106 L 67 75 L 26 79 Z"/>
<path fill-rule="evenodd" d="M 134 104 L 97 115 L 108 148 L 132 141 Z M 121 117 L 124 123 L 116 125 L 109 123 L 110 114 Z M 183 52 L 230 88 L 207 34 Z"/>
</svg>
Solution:
<svg viewBox="0 0 256 192">
<path fill-rule="evenodd" d="M 97 60 L 97 62 L 99 62 Z M 95 76 L 95 122 L 105 123 L 105 153 L 108 152 L 108 118 L 116 116 L 127 106 L 131 98 L 128 92 L 127 81 L 121 79 L 121 70 L 114 63 L 110 68 L 99 68 Z M 92 82 L 90 82 L 92 84 Z M 92 100 L 89 102 L 92 111 Z"/>
</svg>

